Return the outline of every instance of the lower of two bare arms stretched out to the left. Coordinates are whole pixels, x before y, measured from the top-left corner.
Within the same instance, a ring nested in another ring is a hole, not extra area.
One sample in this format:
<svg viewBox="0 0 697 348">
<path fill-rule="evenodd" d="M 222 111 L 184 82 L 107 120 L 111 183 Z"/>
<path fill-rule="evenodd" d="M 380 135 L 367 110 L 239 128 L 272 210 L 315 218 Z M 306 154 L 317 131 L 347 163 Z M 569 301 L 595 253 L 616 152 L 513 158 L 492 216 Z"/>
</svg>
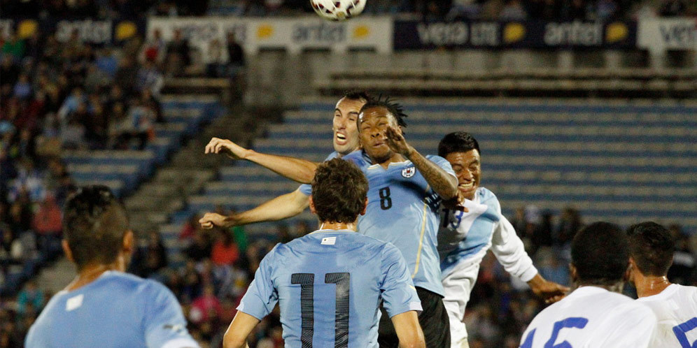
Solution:
<svg viewBox="0 0 697 348">
<path fill-rule="evenodd" d="M 213 226 L 232 227 L 238 225 L 253 224 L 255 222 L 276 221 L 294 217 L 300 214 L 307 206 L 309 201 L 307 196 L 300 189 L 297 189 L 290 194 L 278 196 L 271 201 L 262 203 L 257 208 L 233 214 L 229 217 L 207 212 L 201 219 L 199 224 L 204 229 L 212 229 Z"/>
</svg>

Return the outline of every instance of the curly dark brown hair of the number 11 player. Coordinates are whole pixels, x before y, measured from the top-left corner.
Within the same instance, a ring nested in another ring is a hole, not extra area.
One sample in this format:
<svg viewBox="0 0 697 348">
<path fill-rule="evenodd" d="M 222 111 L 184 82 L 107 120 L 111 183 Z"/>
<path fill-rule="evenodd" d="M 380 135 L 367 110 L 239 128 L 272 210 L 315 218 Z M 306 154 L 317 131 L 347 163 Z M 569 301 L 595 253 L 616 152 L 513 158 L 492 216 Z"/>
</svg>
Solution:
<svg viewBox="0 0 697 348">
<path fill-rule="evenodd" d="M 365 208 L 368 180 L 355 164 L 332 159 L 318 166 L 312 201 L 322 222 L 354 222 Z"/>
</svg>

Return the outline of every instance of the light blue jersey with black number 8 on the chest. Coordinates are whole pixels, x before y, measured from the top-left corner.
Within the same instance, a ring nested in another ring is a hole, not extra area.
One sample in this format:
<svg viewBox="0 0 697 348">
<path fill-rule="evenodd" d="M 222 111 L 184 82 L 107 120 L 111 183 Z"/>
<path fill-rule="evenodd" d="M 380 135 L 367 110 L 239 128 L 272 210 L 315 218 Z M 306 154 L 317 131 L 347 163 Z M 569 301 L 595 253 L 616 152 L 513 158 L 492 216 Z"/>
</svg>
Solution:
<svg viewBox="0 0 697 348">
<path fill-rule="evenodd" d="M 409 264 L 414 285 L 443 296 L 437 250 L 441 198 L 411 161 L 385 169 L 372 164 L 362 151 L 344 159 L 357 164 L 368 179 L 368 207 L 358 218 L 358 232 L 394 244 Z M 444 158 L 428 155 L 426 159 L 455 176 Z"/>
</svg>

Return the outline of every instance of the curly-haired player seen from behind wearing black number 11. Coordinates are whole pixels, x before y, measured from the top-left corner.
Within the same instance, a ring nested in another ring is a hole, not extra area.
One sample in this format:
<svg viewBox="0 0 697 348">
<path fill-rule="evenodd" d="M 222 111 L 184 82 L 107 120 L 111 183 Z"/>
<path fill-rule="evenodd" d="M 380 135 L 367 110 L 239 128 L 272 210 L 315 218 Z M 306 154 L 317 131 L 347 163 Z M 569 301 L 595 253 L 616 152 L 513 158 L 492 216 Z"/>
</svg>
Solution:
<svg viewBox="0 0 697 348">
<path fill-rule="evenodd" d="M 244 347 L 259 321 L 281 307 L 286 347 L 378 347 L 383 302 L 402 347 L 425 347 L 421 311 L 407 262 L 392 244 L 355 233 L 368 182 L 348 161 L 316 170 L 310 209 L 318 231 L 279 243 L 261 261 L 225 333 L 225 348 Z"/>
</svg>

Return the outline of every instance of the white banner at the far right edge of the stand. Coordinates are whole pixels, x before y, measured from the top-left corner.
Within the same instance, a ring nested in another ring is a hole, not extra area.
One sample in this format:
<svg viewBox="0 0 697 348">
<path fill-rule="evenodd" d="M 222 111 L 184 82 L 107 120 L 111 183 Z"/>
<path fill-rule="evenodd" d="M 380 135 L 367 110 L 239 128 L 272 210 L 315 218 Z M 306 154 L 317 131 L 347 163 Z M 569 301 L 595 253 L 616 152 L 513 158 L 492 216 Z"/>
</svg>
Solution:
<svg viewBox="0 0 697 348">
<path fill-rule="evenodd" d="M 639 21 L 639 48 L 654 51 L 697 50 L 697 18 L 652 18 Z"/>
</svg>

